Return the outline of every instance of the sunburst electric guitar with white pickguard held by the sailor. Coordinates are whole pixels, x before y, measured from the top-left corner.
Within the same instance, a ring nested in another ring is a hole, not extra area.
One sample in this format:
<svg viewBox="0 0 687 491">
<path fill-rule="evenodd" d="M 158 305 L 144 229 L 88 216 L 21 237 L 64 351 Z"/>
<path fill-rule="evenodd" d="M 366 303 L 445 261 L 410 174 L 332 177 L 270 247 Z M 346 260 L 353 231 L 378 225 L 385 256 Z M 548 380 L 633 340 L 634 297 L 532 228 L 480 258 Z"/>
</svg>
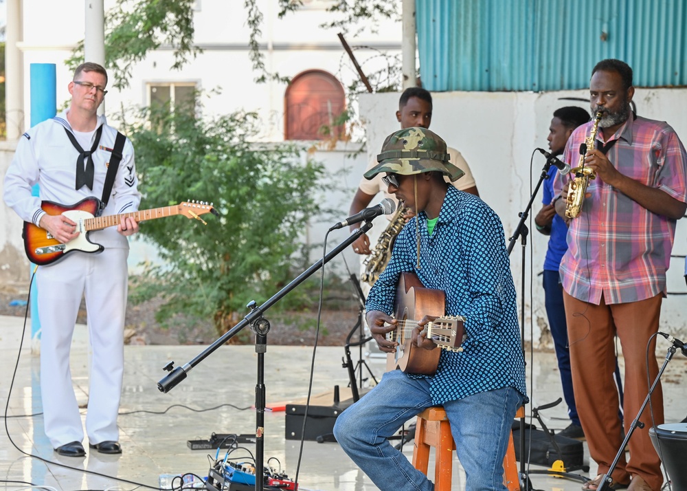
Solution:
<svg viewBox="0 0 687 491">
<path fill-rule="evenodd" d="M 122 213 L 121 215 L 106 215 L 98 217 L 100 212 L 100 199 L 89 197 L 82 199 L 75 205 L 65 206 L 53 201 L 43 201 L 41 208 L 48 215 L 65 215 L 76 223 L 76 232 L 80 232 L 77 237 L 67 243 L 61 243 L 47 230 L 35 226 L 33 223 L 24 222 L 22 237 L 24 239 L 24 250 L 29 260 L 39 266 L 59 261 L 69 252 L 80 250 L 82 252 L 100 252 L 104 248 L 97 243 L 89 240 L 88 234 L 91 230 L 102 230 L 103 228 L 115 227 L 119 225 L 122 218 L 132 217 L 135 221 L 152 220 L 172 215 L 184 215 L 188 218 L 195 218 L 203 221 L 200 215 L 205 213 L 217 212 L 212 205 L 207 203 L 183 202 L 173 206 L 163 206 L 150 210 L 134 211 Z M 203 221 L 205 223 L 205 221 Z"/>
</svg>

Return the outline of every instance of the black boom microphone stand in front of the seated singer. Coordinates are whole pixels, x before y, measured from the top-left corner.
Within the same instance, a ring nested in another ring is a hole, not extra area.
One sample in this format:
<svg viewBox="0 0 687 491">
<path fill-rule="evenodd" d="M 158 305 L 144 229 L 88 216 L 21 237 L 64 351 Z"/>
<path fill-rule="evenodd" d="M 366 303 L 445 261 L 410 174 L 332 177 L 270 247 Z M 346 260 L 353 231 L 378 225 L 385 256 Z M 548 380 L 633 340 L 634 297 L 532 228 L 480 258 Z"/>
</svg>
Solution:
<svg viewBox="0 0 687 491">
<path fill-rule="evenodd" d="M 374 217 L 373 217 L 374 218 Z M 225 342 L 234 337 L 238 332 L 247 326 L 251 327 L 251 331 L 256 334 L 256 353 L 258 353 L 258 382 L 256 384 L 256 491 L 262 491 L 264 488 L 264 404 L 265 404 L 265 388 L 264 388 L 264 353 L 267 352 L 267 333 L 269 332 L 269 320 L 264 318 L 264 312 L 269 309 L 272 305 L 277 303 L 284 297 L 287 293 L 291 292 L 295 287 L 300 285 L 304 280 L 308 279 L 314 272 L 322 268 L 322 266 L 328 263 L 331 259 L 340 254 L 343 250 L 348 248 L 354 241 L 361 236 L 361 234 L 367 232 L 372 228 L 372 223 L 370 221 L 365 221 L 363 226 L 355 230 L 350 236 L 336 246 L 331 252 L 325 254 L 325 257 L 319 259 L 315 264 L 311 265 L 310 268 L 302 272 L 297 278 L 293 279 L 291 283 L 282 288 L 279 292 L 274 294 L 268 301 L 260 305 L 256 304 L 255 301 L 251 301 L 247 307 L 251 309 L 251 312 L 247 316 L 240 320 L 232 329 L 229 329 L 221 338 L 218 338 L 212 345 L 205 348 L 198 356 L 193 358 L 190 362 L 184 364 L 182 367 L 174 368 L 174 362 L 169 362 L 164 369 L 169 373 L 159 382 L 157 382 L 157 388 L 161 392 L 169 392 L 174 389 L 179 382 L 186 378 L 187 373 L 195 367 L 197 364 L 205 360 L 207 356 L 215 351 L 218 347 L 221 347 Z M 304 416 L 304 422 L 306 421 L 308 415 Z"/>
</svg>

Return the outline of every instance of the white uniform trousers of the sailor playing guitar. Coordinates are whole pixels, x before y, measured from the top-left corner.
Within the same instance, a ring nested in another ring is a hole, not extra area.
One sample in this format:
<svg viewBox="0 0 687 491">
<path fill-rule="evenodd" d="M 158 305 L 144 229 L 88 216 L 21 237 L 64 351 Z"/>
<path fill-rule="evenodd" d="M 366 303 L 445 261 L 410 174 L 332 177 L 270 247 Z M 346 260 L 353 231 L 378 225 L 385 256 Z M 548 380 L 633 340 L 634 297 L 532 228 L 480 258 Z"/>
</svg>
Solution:
<svg viewBox="0 0 687 491">
<path fill-rule="evenodd" d="M 69 349 L 85 294 L 93 366 L 89 380 L 86 433 L 90 444 L 119 440 L 117 413 L 124 373 L 124 313 L 128 249 L 100 254 L 71 252 L 36 272 L 41 320 L 41 399 L 45 435 L 53 448 L 82 441 L 69 368 Z"/>
</svg>

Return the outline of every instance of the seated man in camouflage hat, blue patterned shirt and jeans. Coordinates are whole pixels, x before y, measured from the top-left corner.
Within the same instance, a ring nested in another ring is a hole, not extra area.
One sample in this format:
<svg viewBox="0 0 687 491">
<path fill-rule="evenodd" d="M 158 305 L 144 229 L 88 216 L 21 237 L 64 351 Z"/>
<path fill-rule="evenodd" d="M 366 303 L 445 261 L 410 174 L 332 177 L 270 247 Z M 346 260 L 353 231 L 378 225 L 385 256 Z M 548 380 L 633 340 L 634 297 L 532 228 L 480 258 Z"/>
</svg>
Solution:
<svg viewBox="0 0 687 491">
<path fill-rule="evenodd" d="M 396 131 L 384 142 L 368 179 L 386 173 L 389 192 L 416 212 L 398 234 L 392 258 L 366 303 L 379 349 L 398 343 L 385 334 L 398 327 L 394 312 L 401 273 L 445 296 L 445 314 L 463 316 L 462 351 L 441 350 L 433 375 L 385 373 L 381 382 L 337 418 L 341 448 L 381 490 L 433 490 L 427 476 L 388 441 L 420 411 L 441 405 L 451 422 L 466 489 L 505 491 L 503 460 L 518 406 L 527 402 L 517 305 L 504 229 L 478 197 L 456 190 L 446 144 L 423 128 Z M 436 317 L 424 316 L 411 339 L 418 351 L 438 349 L 423 333 Z"/>
</svg>

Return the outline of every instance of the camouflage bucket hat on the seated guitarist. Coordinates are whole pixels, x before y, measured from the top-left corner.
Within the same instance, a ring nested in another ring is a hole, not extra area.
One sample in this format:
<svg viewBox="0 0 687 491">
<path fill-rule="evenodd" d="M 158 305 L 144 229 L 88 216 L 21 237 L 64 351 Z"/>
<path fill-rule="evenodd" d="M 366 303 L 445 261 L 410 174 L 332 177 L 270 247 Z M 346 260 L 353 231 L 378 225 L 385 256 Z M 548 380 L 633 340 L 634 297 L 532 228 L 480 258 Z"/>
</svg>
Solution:
<svg viewBox="0 0 687 491">
<path fill-rule="evenodd" d="M 387 136 L 377 164 L 367 171 L 365 179 L 385 172 L 412 175 L 423 172 L 440 172 L 455 181 L 464 175 L 460 168 L 449 162 L 446 142 L 425 128 L 405 128 Z"/>
</svg>

